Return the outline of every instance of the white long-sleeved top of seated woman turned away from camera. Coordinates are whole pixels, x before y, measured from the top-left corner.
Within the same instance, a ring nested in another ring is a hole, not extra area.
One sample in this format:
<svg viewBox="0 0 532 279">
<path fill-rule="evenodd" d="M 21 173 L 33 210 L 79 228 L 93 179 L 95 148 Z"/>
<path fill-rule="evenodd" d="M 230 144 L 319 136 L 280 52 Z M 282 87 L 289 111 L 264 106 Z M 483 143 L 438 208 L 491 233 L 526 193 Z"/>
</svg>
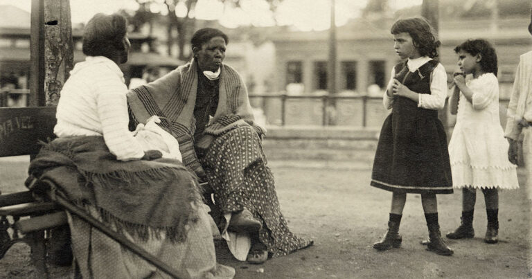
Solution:
<svg viewBox="0 0 532 279">
<path fill-rule="evenodd" d="M 127 128 L 127 87 L 118 65 L 107 57 L 87 57 L 74 66 L 57 104 L 53 132 L 64 136 L 102 136 L 116 159 L 140 159 L 143 148 Z"/>
</svg>

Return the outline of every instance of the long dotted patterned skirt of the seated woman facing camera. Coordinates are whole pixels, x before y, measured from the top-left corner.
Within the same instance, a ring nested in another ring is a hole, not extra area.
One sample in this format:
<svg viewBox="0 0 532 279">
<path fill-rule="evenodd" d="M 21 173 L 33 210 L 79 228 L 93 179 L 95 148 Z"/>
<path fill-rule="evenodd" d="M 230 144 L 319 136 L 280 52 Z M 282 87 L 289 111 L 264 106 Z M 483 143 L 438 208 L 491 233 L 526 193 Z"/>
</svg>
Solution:
<svg viewBox="0 0 532 279">
<path fill-rule="evenodd" d="M 224 213 L 243 208 L 251 211 L 263 225 L 259 240 L 272 258 L 312 244 L 312 240 L 290 232 L 277 199 L 274 175 L 252 127 L 237 127 L 218 136 L 201 161 L 218 208 Z M 224 218 L 219 226 L 224 228 Z"/>
</svg>

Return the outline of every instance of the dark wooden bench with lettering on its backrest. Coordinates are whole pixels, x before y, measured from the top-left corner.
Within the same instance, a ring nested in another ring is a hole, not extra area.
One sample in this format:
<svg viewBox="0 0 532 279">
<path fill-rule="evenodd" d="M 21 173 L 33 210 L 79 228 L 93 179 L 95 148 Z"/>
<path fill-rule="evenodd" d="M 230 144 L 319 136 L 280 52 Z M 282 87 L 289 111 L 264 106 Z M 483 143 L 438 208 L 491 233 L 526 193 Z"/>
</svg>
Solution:
<svg viewBox="0 0 532 279">
<path fill-rule="evenodd" d="M 39 152 L 39 141 L 52 139 L 55 107 L 0 108 L 0 157 Z M 10 171 L 3 165 L 3 172 Z M 0 189 L 3 190 L 3 189 Z M 17 242 L 31 247 L 37 274 L 46 269 L 46 240 L 50 229 L 67 224 L 55 202 L 36 199 L 29 191 L 0 195 L 0 258 Z"/>
</svg>

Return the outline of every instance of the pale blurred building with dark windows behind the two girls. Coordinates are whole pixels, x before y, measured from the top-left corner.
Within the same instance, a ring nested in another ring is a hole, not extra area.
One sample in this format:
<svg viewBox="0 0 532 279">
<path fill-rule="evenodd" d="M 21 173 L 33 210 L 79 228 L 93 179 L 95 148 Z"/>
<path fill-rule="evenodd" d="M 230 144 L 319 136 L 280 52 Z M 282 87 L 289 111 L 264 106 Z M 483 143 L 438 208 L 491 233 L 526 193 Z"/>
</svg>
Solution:
<svg viewBox="0 0 532 279">
<path fill-rule="evenodd" d="M 496 48 L 499 61 L 501 119 L 504 125 L 515 69 L 522 53 L 531 50 L 527 30 L 529 18 L 472 21 L 441 21 L 440 60 L 451 77 L 457 69 L 454 47 L 465 39 L 488 39 Z M 263 110 L 269 123 L 285 125 L 344 125 L 380 127 L 389 111 L 382 106 L 382 93 L 392 67 L 400 62 L 393 50 L 389 28 L 393 21 L 379 27 L 364 19 L 353 20 L 337 28 L 337 96 L 352 96 L 328 106 L 317 98 L 290 99 L 284 112 L 279 100 L 264 100 Z M 275 46 L 275 92 L 303 96 L 328 96 L 328 31 L 285 32 L 272 37 Z M 449 79 L 451 80 L 451 79 Z M 363 98 L 357 98 L 363 97 Z M 283 115 L 284 114 L 284 115 Z M 324 114 L 327 114 L 324 116 Z M 323 120 L 327 118 L 328 120 Z M 449 125 L 454 117 L 448 116 Z"/>
</svg>

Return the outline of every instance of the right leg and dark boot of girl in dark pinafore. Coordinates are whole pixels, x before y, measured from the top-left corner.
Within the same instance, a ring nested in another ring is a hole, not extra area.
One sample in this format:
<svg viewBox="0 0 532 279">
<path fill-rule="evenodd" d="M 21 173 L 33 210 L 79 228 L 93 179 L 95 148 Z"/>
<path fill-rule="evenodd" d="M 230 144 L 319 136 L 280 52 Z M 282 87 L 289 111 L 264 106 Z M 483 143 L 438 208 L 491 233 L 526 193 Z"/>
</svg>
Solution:
<svg viewBox="0 0 532 279">
<path fill-rule="evenodd" d="M 440 225 L 438 224 L 438 205 L 436 202 L 436 195 L 421 195 L 421 204 L 423 204 L 425 219 L 427 220 L 427 228 L 429 229 L 427 250 L 438 255 L 452 255 L 454 251 L 452 251 L 441 238 Z"/>
</svg>

